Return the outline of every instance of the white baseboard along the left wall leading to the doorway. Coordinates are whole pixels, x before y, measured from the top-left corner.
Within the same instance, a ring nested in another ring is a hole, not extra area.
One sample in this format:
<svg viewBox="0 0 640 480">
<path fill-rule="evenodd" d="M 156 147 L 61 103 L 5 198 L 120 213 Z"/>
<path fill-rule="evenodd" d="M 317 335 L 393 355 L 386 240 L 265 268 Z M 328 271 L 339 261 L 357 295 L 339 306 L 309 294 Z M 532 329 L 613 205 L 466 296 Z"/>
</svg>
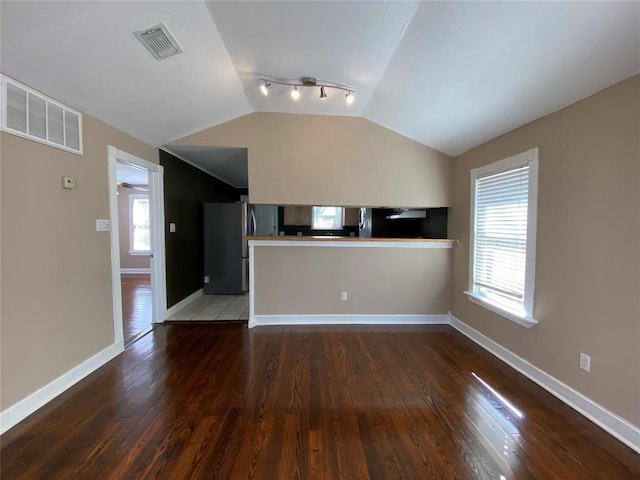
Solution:
<svg viewBox="0 0 640 480">
<path fill-rule="evenodd" d="M 35 391 L 28 397 L 13 404 L 6 410 L 0 412 L 0 434 L 5 433 L 10 428 L 27 418 L 40 407 L 49 403 L 58 395 L 71 388 L 84 377 L 94 372 L 109 360 L 115 358 L 124 351 L 123 342 L 109 345 L 104 350 L 96 353 L 79 365 L 76 365 L 68 372 L 56 378 L 53 382 Z"/>
</svg>

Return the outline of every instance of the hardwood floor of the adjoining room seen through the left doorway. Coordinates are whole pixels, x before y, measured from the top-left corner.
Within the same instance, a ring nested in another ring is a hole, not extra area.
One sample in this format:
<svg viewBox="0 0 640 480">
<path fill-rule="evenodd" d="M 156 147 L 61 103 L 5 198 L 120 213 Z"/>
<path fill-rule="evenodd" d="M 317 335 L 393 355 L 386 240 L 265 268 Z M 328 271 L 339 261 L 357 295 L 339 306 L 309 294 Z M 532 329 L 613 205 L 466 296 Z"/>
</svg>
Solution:
<svg viewBox="0 0 640 480">
<path fill-rule="evenodd" d="M 151 326 L 151 275 L 121 275 L 124 344 Z"/>
</svg>

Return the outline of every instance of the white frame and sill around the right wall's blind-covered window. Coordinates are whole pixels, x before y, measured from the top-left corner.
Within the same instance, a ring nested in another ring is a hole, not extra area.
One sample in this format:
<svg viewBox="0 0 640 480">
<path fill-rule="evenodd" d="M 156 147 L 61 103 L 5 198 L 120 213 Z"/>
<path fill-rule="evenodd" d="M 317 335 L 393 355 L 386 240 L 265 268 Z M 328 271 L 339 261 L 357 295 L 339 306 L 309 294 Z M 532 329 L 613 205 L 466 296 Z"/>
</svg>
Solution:
<svg viewBox="0 0 640 480">
<path fill-rule="evenodd" d="M 468 299 L 502 317 L 524 327 L 530 328 L 538 324 L 533 317 L 533 294 L 535 287 L 536 262 L 536 231 L 538 217 L 538 148 L 532 148 L 512 157 L 493 162 L 483 167 L 471 170 L 471 222 L 469 231 L 469 290 L 464 292 Z M 503 305 L 492 302 L 481 296 L 474 289 L 473 278 L 475 269 L 475 231 L 476 231 L 476 187 L 479 178 L 500 172 L 513 170 L 522 166 L 529 166 L 529 191 L 527 207 L 527 253 L 525 261 L 524 313 L 510 310 Z"/>
</svg>

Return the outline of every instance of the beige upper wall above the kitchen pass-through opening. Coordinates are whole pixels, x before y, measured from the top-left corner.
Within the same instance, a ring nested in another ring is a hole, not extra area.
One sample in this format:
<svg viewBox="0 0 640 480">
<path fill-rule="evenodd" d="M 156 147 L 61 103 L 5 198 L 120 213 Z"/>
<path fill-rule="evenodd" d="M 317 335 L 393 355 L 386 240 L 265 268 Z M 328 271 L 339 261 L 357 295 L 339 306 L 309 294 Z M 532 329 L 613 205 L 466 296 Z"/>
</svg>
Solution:
<svg viewBox="0 0 640 480">
<path fill-rule="evenodd" d="M 363 118 L 252 113 L 175 143 L 248 147 L 252 203 L 451 204 L 450 157 Z"/>
</svg>

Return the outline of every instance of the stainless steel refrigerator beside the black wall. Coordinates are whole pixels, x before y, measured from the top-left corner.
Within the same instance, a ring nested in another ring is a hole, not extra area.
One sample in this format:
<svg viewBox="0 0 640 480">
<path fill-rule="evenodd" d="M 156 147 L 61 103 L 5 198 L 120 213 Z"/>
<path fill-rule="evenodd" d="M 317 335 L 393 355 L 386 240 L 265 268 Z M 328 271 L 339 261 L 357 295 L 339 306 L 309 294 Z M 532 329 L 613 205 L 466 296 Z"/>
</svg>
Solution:
<svg viewBox="0 0 640 480">
<path fill-rule="evenodd" d="M 241 294 L 249 289 L 249 248 L 253 227 L 247 204 L 205 203 L 204 293 Z"/>
</svg>

